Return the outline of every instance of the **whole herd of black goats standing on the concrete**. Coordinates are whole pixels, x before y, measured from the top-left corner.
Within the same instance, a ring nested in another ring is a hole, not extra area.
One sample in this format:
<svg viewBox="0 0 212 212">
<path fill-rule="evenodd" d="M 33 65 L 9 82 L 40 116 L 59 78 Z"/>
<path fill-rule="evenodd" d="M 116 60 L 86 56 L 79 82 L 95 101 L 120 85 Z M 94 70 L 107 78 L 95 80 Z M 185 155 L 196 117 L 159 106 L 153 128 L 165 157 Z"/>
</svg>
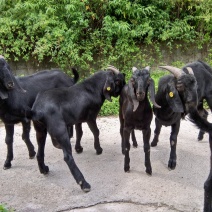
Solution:
<svg viewBox="0 0 212 212">
<path fill-rule="evenodd" d="M 73 136 L 73 126 L 75 125 L 76 130 L 76 152 L 83 151 L 80 141 L 83 135 L 82 123 L 86 122 L 94 135 L 96 153 L 101 154 L 97 115 L 105 99 L 112 101 L 111 97 L 118 96 L 125 172 L 130 170 L 130 136 L 133 146 L 136 147 L 134 130 L 138 129 L 143 133 L 146 173 L 152 174 L 149 140 L 153 112 L 156 127 L 152 147 L 158 143 L 161 127 L 171 126 L 169 169 L 176 167 L 177 136 L 181 119 L 186 115 L 200 129 L 199 140 L 205 132 L 209 133 L 212 153 L 212 124 L 207 121 L 208 113 L 203 107 L 203 100 L 206 100 L 212 110 L 211 67 L 202 61 L 196 61 L 182 69 L 173 66 L 160 68 L 168 70 L 171 74 L 160 78 L 155 94 L 155 85 L 148 66 L 143 69 L 133 67 L 131 79 L 127 84 L 125 75 L 114 66 L 108 66 L 107 70 L 98 71 L 77 83 L 79 74 L 74 68 L 73 78 L 61 70 L 45 70 L 30 76 L 15 77 L 5 58 L 0 56 L 0 118 L 5 125 L 7 144 L 4 169 L 12 166 L 16 123 L 22 123 L 22 139 L 27 145 L 29 157 L 35 157 L 36 152 L 29 136 L 32 120 L 38 143 L 37 161 L 40 172 L 49 172 L 44 163 L 45 142 L 49 133 L 53 145 L 63 150 L 64 160 L 76 182 L 83 191 L 90 191 L 91 186 L 86 182 L 72 156 L 70 138 Z M 212 157 L 210 164 L 210 173 L 204 184 L 205 212 L 212 211 Z"/>
</svg>

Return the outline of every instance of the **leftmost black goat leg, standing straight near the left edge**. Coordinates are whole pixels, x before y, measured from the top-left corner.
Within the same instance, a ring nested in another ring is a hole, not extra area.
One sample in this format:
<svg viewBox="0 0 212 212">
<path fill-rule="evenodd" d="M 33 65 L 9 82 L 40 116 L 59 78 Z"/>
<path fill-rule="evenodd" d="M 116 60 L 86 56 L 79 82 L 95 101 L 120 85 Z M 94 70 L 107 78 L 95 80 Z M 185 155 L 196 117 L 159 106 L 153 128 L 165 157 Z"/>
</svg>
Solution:
<svg viewBox="0 0 212 212">
<path fill-rule="evenodd" d="M 14 124 L 5 124 L 6 137 L 5 143 L 7 144 L 7 157 L 4 162 L 4 169 L 11 168 L 11 161 L 13 160 L 13 135 L 14 135 Z"/>
</svg>

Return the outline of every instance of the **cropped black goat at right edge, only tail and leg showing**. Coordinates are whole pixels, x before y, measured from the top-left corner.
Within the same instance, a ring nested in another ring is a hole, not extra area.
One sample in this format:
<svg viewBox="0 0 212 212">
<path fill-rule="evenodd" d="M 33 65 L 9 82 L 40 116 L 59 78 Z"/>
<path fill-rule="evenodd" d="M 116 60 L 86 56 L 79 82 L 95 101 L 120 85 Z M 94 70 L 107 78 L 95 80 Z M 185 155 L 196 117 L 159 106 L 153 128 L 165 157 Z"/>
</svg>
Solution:
<svg viewBox="0 0 212 212">
<path fill-rule="evenodd" d="M 212 124 L 203 119 L 196 110 L 190 111 L 189 119 L 199 129 L 209 133 L 209 146 L 211 151 L 210 173 L 204 184 L 204 212 L 212 212 Z"/>
</svg>

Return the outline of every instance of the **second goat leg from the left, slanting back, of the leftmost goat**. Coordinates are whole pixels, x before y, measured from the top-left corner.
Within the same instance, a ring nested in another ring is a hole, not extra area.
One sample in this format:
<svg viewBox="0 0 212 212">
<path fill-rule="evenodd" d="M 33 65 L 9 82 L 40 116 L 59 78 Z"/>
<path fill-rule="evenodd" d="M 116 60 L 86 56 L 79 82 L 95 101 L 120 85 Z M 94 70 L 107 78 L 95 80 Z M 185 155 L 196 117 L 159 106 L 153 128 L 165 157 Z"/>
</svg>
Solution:
<svg viewBox="0 0 212 212">
<path fill-rule="evenodd" d="M 33 159 L 36 155 L 36 152 L 32 142 L 30 141 L 31 121 L 28 120 L 26 122 L 22 122 L 22 126 L 23 126 L 22 139 L 27 146 L 29 152 L 29 158 Z"/>
</svg>

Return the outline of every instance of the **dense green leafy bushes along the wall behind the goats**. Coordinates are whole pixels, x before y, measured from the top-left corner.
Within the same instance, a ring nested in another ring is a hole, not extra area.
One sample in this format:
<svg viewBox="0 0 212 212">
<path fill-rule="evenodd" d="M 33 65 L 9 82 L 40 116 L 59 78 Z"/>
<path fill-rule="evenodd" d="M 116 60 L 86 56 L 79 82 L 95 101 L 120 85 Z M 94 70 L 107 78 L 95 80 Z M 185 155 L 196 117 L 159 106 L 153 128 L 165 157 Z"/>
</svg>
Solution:
<svg viewBox="0 0 212 212">
<path fill-rule="evenodd" d="M 160 43 L 211 42 L 212 0 L 0 0 L 0 54 L 87 72 L 160 60 Z M 154 57 L 149 56 L 153 50 Z"/>
</svg>

